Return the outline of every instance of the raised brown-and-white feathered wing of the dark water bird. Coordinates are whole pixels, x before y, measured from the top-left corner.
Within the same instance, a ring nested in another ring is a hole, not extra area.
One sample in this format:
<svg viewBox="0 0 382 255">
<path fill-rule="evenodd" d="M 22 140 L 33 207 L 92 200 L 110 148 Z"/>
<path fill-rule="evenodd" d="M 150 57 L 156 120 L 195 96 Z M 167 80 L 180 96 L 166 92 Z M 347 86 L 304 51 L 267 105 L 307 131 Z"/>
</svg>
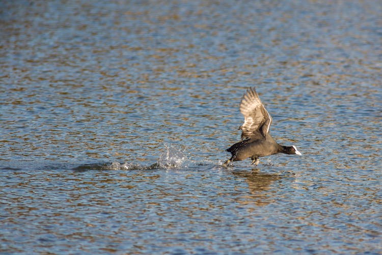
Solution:
<svg viewBox="0 0 382 255">
<path fill-rule="evenodd" d="M 241 139 L 260 139 L 269 133 L 272 118 L 261 103 L 255 88 L 249 88 L 244 94 L 240 102 L 240 112 L 244 116 L 244 123 L 240 127 Z"/>
</svg>

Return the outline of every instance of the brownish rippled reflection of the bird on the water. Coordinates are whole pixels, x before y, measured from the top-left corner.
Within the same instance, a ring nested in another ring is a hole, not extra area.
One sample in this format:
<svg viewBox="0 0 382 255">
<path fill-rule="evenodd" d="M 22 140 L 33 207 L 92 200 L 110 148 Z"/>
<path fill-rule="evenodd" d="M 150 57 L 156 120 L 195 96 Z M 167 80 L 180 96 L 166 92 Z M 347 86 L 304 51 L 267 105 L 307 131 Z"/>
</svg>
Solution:
<svg viewBox="0 0 382 255">
<path fill-rule="evenodd" d="M 263 206 L 275 200 L 276 190 L 272 190 L 270 185 L 282 178 L 279 174 L 261 173 L 256 168 L 252 171 L 236 171 L 232 174 L 247 182 L 250 190 L 248 194 L 241 197 L 239 203 Z"/>
</svg>

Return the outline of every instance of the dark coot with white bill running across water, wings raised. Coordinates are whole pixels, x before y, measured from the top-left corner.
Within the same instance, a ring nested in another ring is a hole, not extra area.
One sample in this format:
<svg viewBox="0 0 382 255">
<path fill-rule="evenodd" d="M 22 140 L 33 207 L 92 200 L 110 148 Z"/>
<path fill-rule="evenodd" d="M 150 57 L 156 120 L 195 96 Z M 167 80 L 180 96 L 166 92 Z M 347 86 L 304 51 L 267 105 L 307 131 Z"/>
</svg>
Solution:
<svg viewBox="0 0 382 255">
<path fill-rule="evenodd" d="M 255 88 L 247 89 L 247 93 L 243 95 L 240 112 L 244 116 L 244 123 L 239 127 L 241 141 L 226 150 L 232 156 L 224 162 L 223 166 L 227 166 L 232 161 L 247 158 L 251 158 L 252 164 L 257 166 L 260 162 L 259 157 L 278 153 L 301 155 L 294 145 L 279 145 L 270 135 L 272 117 L 265 109 Z"/>
</svg>

